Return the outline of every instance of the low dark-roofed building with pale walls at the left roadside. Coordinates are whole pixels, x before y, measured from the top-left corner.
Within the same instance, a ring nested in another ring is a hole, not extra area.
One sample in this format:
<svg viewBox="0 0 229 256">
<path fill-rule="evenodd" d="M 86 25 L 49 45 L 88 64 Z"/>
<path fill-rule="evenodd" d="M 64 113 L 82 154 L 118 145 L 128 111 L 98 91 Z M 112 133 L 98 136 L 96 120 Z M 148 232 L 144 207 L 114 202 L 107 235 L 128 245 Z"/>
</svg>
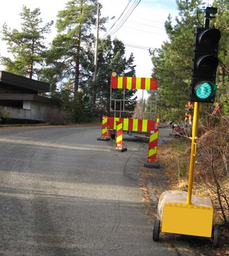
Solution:
<svg viewBox="0 0 229 256">
<path fill-rule="evenodd" d="M 45 121 L 45 114 L 61 105 L 58 100 L 38 96 L 49 90 L 48 83 L 0 71 L 0 106 L 12 119 Z"/>
</svg>

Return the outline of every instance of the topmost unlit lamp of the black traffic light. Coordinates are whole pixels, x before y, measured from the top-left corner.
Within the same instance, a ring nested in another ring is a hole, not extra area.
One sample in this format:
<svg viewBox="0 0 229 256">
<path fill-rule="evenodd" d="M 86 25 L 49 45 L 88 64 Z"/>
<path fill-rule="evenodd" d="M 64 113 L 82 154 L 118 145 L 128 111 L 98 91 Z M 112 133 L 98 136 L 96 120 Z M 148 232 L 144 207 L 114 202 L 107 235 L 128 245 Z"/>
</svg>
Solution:
<svg viewBox="0 0 229 256">
<path fill-rule="evenodd" d="M 220 37 L 221 33 L 218 29 L 209 28 L 200 34 L 199 44 L 206 48 L 217 47 Z"/>
</svg>

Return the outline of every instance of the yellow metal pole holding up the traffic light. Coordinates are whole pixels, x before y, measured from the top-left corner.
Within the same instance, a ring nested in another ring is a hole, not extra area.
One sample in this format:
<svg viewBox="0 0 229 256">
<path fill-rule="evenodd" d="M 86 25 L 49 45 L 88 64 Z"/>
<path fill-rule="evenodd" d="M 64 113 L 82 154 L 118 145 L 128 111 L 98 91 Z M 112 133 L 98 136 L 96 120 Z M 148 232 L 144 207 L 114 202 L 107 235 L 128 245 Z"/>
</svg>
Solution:
<svg viewBox="0 0 229 256">
<path fill-rule="evenodd" d="M 195 102 L 194 115 L 193 115 L 193 126 L 192 126 L 192 137 L 191 137 L 189 185 L 188 185 L 188 195 L 187 195 L 186 204 L 191 204 L 192 182 L 193 182 L 193 173 L 194 173 L 195 156 L 196 156 L 196 138 L 197 138 L 197 133 L 198 133 L 199 109 L 200 109 L 200 103 Z"/>
</svg>

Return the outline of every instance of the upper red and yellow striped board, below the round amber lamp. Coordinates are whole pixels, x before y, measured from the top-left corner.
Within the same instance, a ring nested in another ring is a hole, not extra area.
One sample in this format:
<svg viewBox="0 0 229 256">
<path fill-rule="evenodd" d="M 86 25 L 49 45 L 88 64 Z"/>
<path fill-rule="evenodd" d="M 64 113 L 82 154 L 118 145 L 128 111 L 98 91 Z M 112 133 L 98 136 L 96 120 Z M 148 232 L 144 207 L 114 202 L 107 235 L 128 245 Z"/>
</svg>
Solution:
<svg viewBox="0 0 229 256">
<path fill-rule="evenodd" d="M 154 78 L 111 77 L 111 88 L 157 90 L 158 83 Z"/>
</svg>

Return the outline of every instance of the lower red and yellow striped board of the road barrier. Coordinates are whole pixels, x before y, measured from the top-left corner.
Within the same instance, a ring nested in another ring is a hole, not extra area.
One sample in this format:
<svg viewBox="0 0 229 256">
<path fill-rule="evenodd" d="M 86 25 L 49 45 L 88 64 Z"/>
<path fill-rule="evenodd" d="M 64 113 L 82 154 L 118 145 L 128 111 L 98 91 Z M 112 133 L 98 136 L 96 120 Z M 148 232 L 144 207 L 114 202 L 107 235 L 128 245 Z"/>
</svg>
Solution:
<svg viewBox="0 0 229 256">
<path fill-rule="evenodd" d="M 116 130 L 116 122 L 123 122 L 123 130 L 128 132 L 143 132 L 149 133 L 154 129 L 154 120 L 147 119 L 131 119 L 108 117 L 108 127 L 111 130 Z"/>
</svg>

